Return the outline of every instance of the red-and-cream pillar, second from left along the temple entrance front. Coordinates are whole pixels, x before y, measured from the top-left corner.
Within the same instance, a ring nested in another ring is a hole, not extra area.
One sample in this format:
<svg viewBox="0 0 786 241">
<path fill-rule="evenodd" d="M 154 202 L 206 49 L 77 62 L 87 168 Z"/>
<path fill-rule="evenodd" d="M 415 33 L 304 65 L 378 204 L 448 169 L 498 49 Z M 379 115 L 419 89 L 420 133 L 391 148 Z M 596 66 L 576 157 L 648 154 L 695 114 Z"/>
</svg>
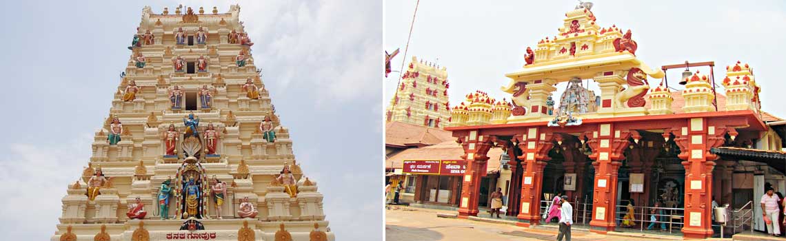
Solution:
<svg viewBox="0 0 786 241">
<path fill-rule="evenodd" d="M 552 148 L 552 133 L 535 127 L 527 128 L 522 134 L 519 148 L 522 155 L 517 158 L 522 161 L 524 172 L 521 177 L 520 213 L 516 216 L 519 222 L 516 225 L 529 227 L 538 225 L 541 216 L 540 203 L 543 189 L 543 168 L 549 159 L 548 152 Z"/>
</svg>

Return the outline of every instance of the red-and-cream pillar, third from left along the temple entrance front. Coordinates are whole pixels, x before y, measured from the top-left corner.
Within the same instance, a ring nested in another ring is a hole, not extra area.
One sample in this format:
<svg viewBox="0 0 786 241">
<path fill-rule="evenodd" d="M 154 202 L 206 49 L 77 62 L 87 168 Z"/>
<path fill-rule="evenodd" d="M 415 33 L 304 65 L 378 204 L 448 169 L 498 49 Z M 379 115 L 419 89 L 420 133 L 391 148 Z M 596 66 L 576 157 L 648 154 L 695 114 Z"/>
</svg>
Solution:
<svg viewBox="0 0 786 241">
<path fill-rule="evenodd" d="M 605 234 L 614 231 L 617 204 L 617 175 L 628 147 L 629 130 L 615 130 L 615 124 L 600 124 L 593 130 L 588 141 L 593 153 L 589 155 L 595 166 L 593 184 L 593 212 L 589 231 Z"/>
</svg>

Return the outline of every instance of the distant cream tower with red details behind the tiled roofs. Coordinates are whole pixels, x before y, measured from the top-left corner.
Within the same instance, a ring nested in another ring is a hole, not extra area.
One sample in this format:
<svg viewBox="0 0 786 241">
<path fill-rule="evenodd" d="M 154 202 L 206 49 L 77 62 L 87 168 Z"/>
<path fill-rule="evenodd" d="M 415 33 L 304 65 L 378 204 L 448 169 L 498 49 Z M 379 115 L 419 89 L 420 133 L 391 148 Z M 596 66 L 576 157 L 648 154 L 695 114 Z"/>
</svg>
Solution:
<svg viewBox="0 0 786 241">
<path fill-rule="evenodd" d="M 399 89 L 385 111 L 387 122 L 443 128 L 450 119 L 447 69 L 412 57 Z"/>
</svg>

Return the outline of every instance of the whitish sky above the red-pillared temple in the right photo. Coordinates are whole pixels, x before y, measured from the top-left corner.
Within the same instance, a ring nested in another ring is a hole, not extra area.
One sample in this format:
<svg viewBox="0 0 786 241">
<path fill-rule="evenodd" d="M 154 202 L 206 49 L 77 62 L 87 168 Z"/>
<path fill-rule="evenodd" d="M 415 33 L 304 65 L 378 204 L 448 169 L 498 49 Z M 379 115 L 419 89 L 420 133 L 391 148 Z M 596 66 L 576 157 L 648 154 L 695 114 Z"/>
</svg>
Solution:
<svg viewBox="0 0 786 241">
<path fill-rule="evenodd" d="M 384 3 L 384 49 L 401 48 L 393 60 L 399 71 L 417 0 Z M 633 33 L 637 57 L 656 68 L 667 64 L 714 61 L 715 80 L 725 77 L 725 66 L 737 60 L 750 63 L 756 82 L 762 86 L 762 109 L 786 118 L 782 90 L 783 58 L 786 55 L 786 2 L 783 1 L 622 1 L 593 2 L 593 13 L 601 27 L 617 27 Z M 450 103 L 461 103 L 467 93 L 480 89 L 492 97 L 508 97 L 506 73 L 524 64 L 527 46 L 557 34 L 564 13 L 575 0 L 518 1 L 421 1 L 417 9 L 409 53 L 445 66 L 450 80 Z M 708 74 L 709 68 L 699 68 Z M 692 69 L 695 71 L 696 69 Z M 681 70 L 667 72 L 680 78 Z M 395 93 L 399 73 L 385 80 L 385 106 Z M 651 86 L 660 83 L 650 79 Z M 557 86 L 555 97 L 567 82 Z M 590 89 L 597 84 L 590 82 Z M 678 89 L 683 89 L 678 86 Z M 720 92 L 724 90 L 719 89 Z"/>
</svg>

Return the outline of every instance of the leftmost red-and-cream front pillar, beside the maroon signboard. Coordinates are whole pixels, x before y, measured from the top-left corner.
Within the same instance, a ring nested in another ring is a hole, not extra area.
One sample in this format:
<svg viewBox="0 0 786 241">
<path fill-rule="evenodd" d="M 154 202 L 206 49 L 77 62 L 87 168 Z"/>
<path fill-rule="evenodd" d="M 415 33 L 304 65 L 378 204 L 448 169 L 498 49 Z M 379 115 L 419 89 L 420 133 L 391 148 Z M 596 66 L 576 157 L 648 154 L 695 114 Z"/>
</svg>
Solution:
<svg viewBox="0 0 786 241">
<path fill-rule="evenodd" d="M 467 160 L 467 170 L 462 177 L 458 217 L 478 216 L 480 178 L 486 172 L 486 162 L 489 159 L 487 153 L 493 144 L 490 139 L 489 136 L 479 136 L 477 130 L 470 131 L 464 140 L 459 138 L 465 153 L 461 158 Z"/>
</svg>

